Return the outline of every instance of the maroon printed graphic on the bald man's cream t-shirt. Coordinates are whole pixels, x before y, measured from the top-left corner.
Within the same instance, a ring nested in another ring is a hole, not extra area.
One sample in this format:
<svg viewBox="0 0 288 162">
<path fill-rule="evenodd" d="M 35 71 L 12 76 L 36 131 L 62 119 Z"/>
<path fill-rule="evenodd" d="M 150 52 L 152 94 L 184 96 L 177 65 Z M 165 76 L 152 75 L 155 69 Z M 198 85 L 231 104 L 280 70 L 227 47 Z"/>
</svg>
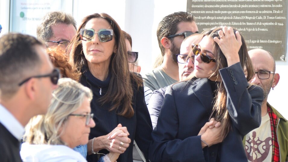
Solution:
<svg viewBox="0 0 288 162">
<path fill-rule="evenodd" d="M 245 152 L 249 161 L 264 161 L 269 155 L 270 149 L 272 149 L 272 138 L 267 137 L 264 140 L 260 140 L 255 131 L 252 132 L 252 137 L 249 136 L 245 142 Z M 271 159 L 269 160 L 271 161 Z"/>
</svg>

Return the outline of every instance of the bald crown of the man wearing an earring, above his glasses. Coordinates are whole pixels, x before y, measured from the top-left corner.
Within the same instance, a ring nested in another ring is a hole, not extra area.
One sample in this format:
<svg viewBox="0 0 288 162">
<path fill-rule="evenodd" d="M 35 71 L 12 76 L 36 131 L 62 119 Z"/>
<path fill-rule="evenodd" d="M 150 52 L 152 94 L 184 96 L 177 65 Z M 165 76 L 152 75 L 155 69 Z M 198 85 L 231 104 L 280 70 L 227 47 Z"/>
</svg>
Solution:
<svg viewBox="0 0 288 162">
<path fill-rule="evenodd" d="M 251 61 L 252 61 L 252 64 L 253 64 L 255 71 L 264 70 L 264 69 L 261 69 L 264 67 L 262 67 L 262 66 L 259 67 L 259 64 L 261 64 L 261 65 L 266 66 L 265 67 L 265 68 L 267 68 L 266 71 L 275 72 L 276 64 L 275 64 L 275 60 L 274 60 L 274 58 L 270 52 L 265 51 L 264 49 L 252 49 L 252 50 L 248 51 L 248 54 L 251 58 Z"/>
</svg>

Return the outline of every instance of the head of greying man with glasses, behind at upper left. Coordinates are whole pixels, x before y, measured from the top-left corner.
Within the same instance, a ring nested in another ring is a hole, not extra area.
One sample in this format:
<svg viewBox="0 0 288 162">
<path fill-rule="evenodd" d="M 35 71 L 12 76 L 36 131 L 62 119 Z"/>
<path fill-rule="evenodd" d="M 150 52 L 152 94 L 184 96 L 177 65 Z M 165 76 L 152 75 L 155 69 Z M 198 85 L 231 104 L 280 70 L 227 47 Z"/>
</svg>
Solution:
<svg viewBox="0 0 288 162">
<path fill-rule="evenodd" d="M 63 46 L 66 48 L 76 35 L 76 21 L 68 13 L 54 11 L 47 13 L 42 23 L 37 26 L 37 38 L 49 46 Z"/>
</svg>

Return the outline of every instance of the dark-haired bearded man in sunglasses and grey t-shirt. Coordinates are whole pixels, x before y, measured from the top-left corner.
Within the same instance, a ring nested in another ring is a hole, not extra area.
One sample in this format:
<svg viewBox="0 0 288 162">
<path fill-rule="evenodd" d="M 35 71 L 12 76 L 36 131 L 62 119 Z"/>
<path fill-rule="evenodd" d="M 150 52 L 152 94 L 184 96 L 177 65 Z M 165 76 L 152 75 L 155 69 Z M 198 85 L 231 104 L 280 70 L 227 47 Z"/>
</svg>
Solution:
<svg viewBox="0 0 288 162">
<path fill-rule="evenodd" d="M 188 12 L 175 12 L 165 16 L 157 28 L 157 39 L 163 61 L 150 73 L 143 76 L 144 86 L 152 91 L 179 81 L 177 56 L 182 41 L 198 33 L 195 17 Z M 145 94 L 146 96 L 146 94 Z"/>
</svg>

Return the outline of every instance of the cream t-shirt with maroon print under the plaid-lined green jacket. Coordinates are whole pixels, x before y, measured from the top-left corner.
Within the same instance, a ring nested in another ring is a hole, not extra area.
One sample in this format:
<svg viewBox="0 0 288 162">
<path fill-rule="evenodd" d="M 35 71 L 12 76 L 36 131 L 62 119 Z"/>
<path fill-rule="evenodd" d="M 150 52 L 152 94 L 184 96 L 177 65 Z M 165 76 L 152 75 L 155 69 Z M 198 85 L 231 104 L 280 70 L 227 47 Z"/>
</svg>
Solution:
<svg viewBox="0 0 288 162">
<path fill-rule="evenodd" d="M 262 116 L 261 125 L 246 135 L 245 152 L 248 162 L 272 160 L 272 135 L 270 117 Z"/>
</svg>

